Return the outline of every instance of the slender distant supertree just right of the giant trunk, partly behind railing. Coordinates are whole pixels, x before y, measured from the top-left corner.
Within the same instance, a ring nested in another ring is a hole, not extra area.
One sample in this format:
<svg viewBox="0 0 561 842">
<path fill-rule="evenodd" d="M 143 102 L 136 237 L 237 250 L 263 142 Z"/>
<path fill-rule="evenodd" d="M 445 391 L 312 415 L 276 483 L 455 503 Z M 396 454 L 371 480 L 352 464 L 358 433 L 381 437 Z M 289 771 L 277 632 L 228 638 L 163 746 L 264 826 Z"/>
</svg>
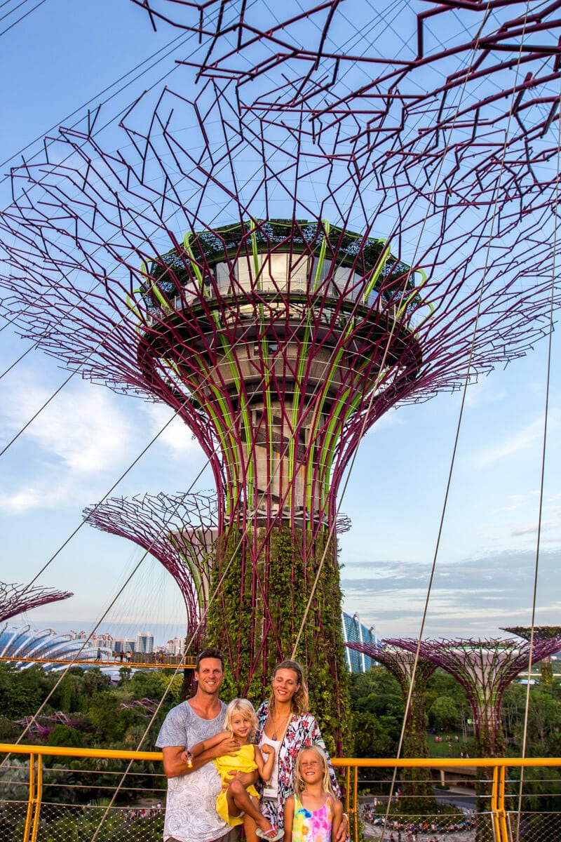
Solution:
<svg viewBox="0 0 561 842">
<path fill-rule="evenodd" d="M 373 661 L 382 663 L 394 679 L 397 679 L 405 705 L 409 699 L 409 706 L 405 711 L 403 756 L 428 757 L 424 694 L 426 684 L 437 669 L 437 664 L 425 658 L 415 658 L 414 652 L 409 652 L 399 646 L 387 645 L 385 641 L 379 644 L 348 642 L 345 645 L 349 649 L 368 655 Z M 405 800 L 405 808 L 412 813 L 427 812 L 426 799 L 434 799 L 431 770 L 404 769 L 403 778 L 404 794 L 411 796 L 411 799 Z M 423 799 L 422 804 L 421 799 Z"/>
</svg>

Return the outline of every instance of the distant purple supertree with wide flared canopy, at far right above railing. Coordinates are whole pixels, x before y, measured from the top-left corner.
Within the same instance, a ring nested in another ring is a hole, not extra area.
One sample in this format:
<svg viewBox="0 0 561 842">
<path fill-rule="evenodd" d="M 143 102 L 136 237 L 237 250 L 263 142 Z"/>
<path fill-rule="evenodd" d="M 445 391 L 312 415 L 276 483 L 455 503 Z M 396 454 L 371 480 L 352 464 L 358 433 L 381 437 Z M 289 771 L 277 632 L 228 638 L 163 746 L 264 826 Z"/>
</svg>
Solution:
<svg viewBox="0 0 561 842">
<path fill-rule="evenodd" d="M 474 729 L 478 757 L 502 757 L 505 742 L 500 725 L 500 705 L 506 687 L 528 668 L 530 658 L 537 663 L 556 652 L 561 638 L 534 640 L 388 640 L 410 653 L 442 667 L 453 675 L 468 695 L 474 711 Z"/>
</svg>

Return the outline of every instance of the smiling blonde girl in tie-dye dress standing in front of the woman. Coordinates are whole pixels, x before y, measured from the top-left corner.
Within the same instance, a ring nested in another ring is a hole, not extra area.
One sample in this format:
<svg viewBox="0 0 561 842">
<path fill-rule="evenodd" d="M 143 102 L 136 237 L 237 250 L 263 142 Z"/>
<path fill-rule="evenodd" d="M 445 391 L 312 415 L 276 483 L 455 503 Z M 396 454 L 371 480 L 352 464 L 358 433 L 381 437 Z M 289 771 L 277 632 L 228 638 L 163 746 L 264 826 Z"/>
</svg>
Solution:
<svg viewBox="0 0 561 842">
<path fill-rule="evenodd" d="M 342 818 L 325 752 L 318 745 L 302 749 L 294 768 L 294 795 L 284 805 L 284 842 L 332 842 Z"/>
</svg>

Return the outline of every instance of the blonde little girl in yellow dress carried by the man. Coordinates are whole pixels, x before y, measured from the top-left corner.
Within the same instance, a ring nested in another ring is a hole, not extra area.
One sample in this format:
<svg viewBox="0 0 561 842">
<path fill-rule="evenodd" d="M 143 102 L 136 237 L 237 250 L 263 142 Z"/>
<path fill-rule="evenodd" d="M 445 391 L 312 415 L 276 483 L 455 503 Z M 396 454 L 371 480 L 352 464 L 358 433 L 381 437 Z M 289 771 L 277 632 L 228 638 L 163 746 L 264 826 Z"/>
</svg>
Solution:
<svg viewBox="0 0 561 842">
<path fill-rule="evenodd" d="M 257 733 L 257 714 L 247 699 L 234 699 L 226 708 L 224 720 L 225 731 L 217 733 L 214 737 L 205 739 L 202 743 L 193 745 L 182 756 L 189 765 L 193 758 L 203 754 L 207 749 L 214 749 L 215 745 L 225 737 L 231 735 L 236 738 L 240 748 L 233 754 L 223 754 L 213 760 L 223 785 L 228 786 L 220 792 L 216 799 L 216 812 L 226 823 L 234 827 L 236 824 L 244 824 L 247 842 L 257 842 L 257 837 L 268 839 L 269 842 L 276 842 L 283 838 L 283 832 L 273 828 L 273 825 L 265 818 L 259 809 L 259 795 L 253 784 L 243 786 L 241 781 L 233 781 L 229 775 L 232 771 L 254 772 L 257 770 L 263 781 L 268 781 L 273 774 L 275 761 L 275 749 L 272 745 L 262 745 L 261 750 L 251 740 Z M 267 755 L 264 760 L 262 754 Z M 245 816 L 250 816 L 257 824 L 248 826 L 244 821 Z"/>
</svg>

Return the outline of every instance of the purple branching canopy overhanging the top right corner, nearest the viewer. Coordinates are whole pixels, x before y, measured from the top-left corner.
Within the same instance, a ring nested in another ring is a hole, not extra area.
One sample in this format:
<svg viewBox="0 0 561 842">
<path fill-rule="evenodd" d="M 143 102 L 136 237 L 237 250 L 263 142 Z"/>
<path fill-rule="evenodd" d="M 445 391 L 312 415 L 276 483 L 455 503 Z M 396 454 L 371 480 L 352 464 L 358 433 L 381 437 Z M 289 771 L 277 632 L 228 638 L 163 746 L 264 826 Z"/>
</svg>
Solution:
<svg viewBox="0 0 561 842">
<path fill-rule="evenodd" d="M 458 164 L 467 154 L 475 167 L 493 167 L 505 121 L 513 124 L 512 146 L 545 137 L 558 120 L 557 3 L 454 0 L 382 9 L 372 0 L 288 0 L 279 15 L 265 3 L 133 2 L 154 26 L 160 20 L 198 33 L 204 47 L 192 64 L 200 77 L 236 83 L 241 109 L 304 109 L 316 137 L 342 127 L 346 137 L 362 139 L 361 153 L 378 147 L 379 163 L 394 159 L 400 170 L 422 163 L 428 173 L 448 153 Z M 474 155 L 479 137 L 488 148 Z M 537 179 L 532 150 L 525 157 L 520 148 L 507 166 L 521 198 L 521 173 Z"/>
</svg>

